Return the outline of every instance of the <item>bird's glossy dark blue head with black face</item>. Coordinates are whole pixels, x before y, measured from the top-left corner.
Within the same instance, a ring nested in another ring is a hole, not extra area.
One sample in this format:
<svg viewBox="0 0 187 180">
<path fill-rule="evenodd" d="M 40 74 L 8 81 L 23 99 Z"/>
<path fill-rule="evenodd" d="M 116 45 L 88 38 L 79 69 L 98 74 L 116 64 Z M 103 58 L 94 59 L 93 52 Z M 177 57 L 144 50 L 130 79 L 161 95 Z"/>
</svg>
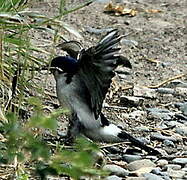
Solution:
<svg viewBox="0 0 187 180">
<path fill-rule="evenodd" d="M 57 74 L 73 75 L 78 70 L 78 61 L 70 56 L 58 56 L 51 61 L 51 72 Z"/>
</svg>

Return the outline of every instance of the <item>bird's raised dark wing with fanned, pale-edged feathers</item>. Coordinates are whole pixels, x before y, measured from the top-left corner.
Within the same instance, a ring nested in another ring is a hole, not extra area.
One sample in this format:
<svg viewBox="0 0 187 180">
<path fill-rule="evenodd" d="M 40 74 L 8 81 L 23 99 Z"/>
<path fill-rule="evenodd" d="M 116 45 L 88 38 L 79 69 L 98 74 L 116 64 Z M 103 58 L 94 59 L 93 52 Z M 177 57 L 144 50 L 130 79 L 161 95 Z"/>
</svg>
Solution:
<svg viewBox="0 0 187 180">
<path fill-rule="evenodd" d="M 96 119 L 101 113 L 103 100 L 115 75 L 114 69 L 120 58 L 120 48 L 117 47 L 119 41 L 118 31 L 113 30 L 96 46 L 80 53 L 80 74 L 90 93 L 91 108 Z"/>
</svg>

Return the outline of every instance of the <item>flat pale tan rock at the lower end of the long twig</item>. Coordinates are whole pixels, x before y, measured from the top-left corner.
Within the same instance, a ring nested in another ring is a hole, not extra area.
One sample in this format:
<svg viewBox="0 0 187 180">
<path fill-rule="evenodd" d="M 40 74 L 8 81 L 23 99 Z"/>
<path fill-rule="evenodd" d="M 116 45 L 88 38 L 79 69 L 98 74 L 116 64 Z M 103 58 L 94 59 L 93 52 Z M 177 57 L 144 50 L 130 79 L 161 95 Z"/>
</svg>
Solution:
<svg viewBox="0 0 187 180">
<path fill-rule="evenodd" d="M 156 98 L 157 96 L 155 89 L 139 87 L 139 86 L 134 86 L 133 93 L 134 93 L 134 96 L 137 96 L 137 97 Z"/>
</svg>

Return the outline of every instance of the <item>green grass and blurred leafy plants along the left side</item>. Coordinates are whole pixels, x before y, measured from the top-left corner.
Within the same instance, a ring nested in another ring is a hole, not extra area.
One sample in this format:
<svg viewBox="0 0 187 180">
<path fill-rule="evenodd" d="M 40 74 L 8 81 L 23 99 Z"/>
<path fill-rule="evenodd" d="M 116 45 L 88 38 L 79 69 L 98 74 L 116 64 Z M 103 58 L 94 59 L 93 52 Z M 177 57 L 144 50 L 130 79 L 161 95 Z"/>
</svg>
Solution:
<svg viewBox="0 0 187 180">
<path fill-rule="evenodd" d="M 30 179 L 31 169 L 41 178 L 50 173 L 66 174 L 74 179 L 103 175 L 94 168 L 92 153 L 98 149 L 93 143 L 80 139 L 74 150 L 67 150 L 60 144 L 49 145 L 36 131 L 56 131 L 57 118 L 65 113 L 62 109 L 44 111 L 44 87 L 35 81 L 37 71 L 48 69 L 56 43 L 65 39 L 63 32 L 81 38 L 77 30 L 63 22 L 63 16 L 92 1 L 66 10 L 66 1 L 61 0 L 59 13 L 54 17 L 28 10 L 33 2 L 37 3 L 34 0 L 0 1 L 0 168 L 1 164 L 7 168 L 13 165 L 9 178 Z M 50 35 L 50 48 L 33 43 L 34 31 Z M 32 91 L 38 98 L 31 97 Z"/>
</svg>

